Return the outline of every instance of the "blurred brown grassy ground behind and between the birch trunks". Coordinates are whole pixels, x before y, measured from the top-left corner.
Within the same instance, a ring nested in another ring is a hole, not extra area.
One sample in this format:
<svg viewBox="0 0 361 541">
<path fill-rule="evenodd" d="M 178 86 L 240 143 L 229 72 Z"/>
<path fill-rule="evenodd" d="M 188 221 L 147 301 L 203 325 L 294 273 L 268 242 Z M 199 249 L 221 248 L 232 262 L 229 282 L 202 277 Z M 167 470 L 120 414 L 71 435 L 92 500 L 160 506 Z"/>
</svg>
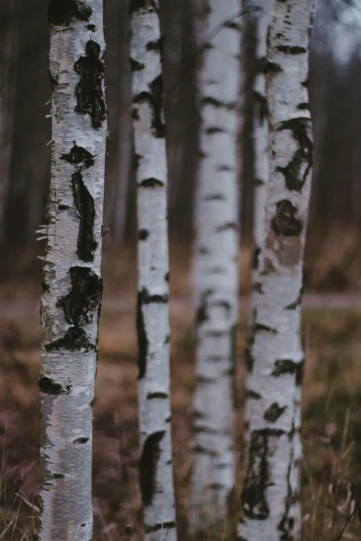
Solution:
<svg viewBox="0 0 361 541">
<path fill-rule="evenodd" d="M 138 540 L 142 533 L 137 469 L 136 283 L 131 264 L 123 264 L 122 268 L 115 280 L 110 278 L 107 264 L 104 267 L 94 406 L 95 541 Z M 174 260 L 171 276 L 174 475 L 179 540 L 185 541 L 192 466 L 194 343 L 192 312 L 186 301 L 189 273 Z M 32 540 L 37 531 L 37 287 L 31 294 L 23 287 L 6 287 L 0 295 L 0 540 Z M 238 336 L 237 442 L 241 441 L 242 353 L 247 332 L 247 314 L 243 310 Z M 303 335 L 303 540 L 333 541 L 361 495 L 361 307 L 306 309 Z M 234 517 L 230 517 L 229 524 L 234 524 Z M 356 540 L 360 535 L 355 513 L 342 539 Z M 212 541 L 230 538 L 229 533 L 212 529 L 205 537 Z"/>
</svg>

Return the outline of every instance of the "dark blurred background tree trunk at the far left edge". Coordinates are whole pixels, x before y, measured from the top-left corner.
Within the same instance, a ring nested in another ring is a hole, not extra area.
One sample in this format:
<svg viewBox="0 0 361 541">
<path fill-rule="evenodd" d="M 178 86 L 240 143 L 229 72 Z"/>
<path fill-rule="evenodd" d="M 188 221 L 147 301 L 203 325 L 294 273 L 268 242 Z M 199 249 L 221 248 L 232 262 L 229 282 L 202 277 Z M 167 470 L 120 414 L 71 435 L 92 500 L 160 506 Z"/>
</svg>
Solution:
<svg viewBox="0 0 361 541">
<path fill-rule="evenodd" d="M 6 207 L 14 136 L 18 40 L 17 2 L 5 0 L 0 6 L 0 247 L 5 244 L 6 234 Z"/>
</svg>

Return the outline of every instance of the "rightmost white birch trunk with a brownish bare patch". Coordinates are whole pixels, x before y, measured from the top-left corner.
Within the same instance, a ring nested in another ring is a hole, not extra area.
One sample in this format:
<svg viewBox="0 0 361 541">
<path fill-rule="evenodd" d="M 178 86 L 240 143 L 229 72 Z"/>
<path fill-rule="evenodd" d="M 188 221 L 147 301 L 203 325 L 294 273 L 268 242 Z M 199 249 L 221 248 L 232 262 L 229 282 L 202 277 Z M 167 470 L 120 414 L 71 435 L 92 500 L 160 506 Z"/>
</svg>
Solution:
<svg viewBox="0 0 361 541">
<path fill-rule="evenodd" d="M 299 540 L 302 264 L 311 184 L 308 46 L 314 0 L 277 2 L 268 28 L 269 184 L 246 383 L 239 540 Z"/>
</svg>

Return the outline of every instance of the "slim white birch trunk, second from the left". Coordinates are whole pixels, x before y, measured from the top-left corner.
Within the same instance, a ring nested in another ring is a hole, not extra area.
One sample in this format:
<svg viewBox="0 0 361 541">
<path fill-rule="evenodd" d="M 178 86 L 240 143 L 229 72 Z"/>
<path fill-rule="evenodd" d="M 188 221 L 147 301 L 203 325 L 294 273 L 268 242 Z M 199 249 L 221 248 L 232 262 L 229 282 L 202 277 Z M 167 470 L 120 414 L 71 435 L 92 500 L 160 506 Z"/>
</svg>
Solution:
<svg viewBox="0 0 361 541">
<path fill-rule="evenodd" d="M 176 541 L 169 397 L 167 160 L 158 3 L 131 2 L 138 202 L 140 489 L 145 541 Z"/>
</svg>

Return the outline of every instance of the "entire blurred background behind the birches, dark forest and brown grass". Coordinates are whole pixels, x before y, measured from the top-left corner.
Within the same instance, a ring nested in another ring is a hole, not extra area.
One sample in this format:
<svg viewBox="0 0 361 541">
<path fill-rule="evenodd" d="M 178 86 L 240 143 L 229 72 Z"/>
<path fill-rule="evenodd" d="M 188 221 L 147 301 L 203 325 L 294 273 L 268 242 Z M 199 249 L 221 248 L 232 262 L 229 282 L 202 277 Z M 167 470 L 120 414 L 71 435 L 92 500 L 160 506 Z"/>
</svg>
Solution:
<svg viewBox="0 0 361 541">
<path fill-rule="evenodd" d="M 191 258 L 198 137 L 194 59 L 198 51 L 192 0 L 160 4 L 166 38 L 174 471 L 182 539 L 194 389 Z M 41 283 L 37 256 L 43 254 L 44 246 L 36 243 L 35 230 L 44 222 L 50 179 L 47 7 L 47 0 L 6 0 L 0 14 L 1 73 L 8 74 L 8 85 L 1 87 L 8 100 L 1 155 L 8 160 L 1 161 L 0 171 L 0 535 L 9 539 L 30 539 L 37 528 Z M 136 196 L 126 1 L 106 2 L 104 26 L 110 133 L 104 227 L 109 227 L 109 234 L 104 237 L 93 473 L 97 535 L 117 540 L 124 535 L 138 538 L 141 508 L 134 325 Z M 304 535 L 310 540 L 342 527 L 361 488 L 357 368 L 361 350 L 360 28 L 357 6 L 345 0 L 317 2 L 310 59 L 315 155 L 304 301 L 303 501 Z M 240 352 L 247 336 L 252 235 L 253 57 L 254 28 L 252 19 L 245 16 L 240 88 Z M 242 362 L 237 372 L 241 437 Z M 347 535 L 360 533 L 356 520 L 350 527 Z M 219 539 L 219 535 L 210 531 L 209 538 Z"/>
</svg>

